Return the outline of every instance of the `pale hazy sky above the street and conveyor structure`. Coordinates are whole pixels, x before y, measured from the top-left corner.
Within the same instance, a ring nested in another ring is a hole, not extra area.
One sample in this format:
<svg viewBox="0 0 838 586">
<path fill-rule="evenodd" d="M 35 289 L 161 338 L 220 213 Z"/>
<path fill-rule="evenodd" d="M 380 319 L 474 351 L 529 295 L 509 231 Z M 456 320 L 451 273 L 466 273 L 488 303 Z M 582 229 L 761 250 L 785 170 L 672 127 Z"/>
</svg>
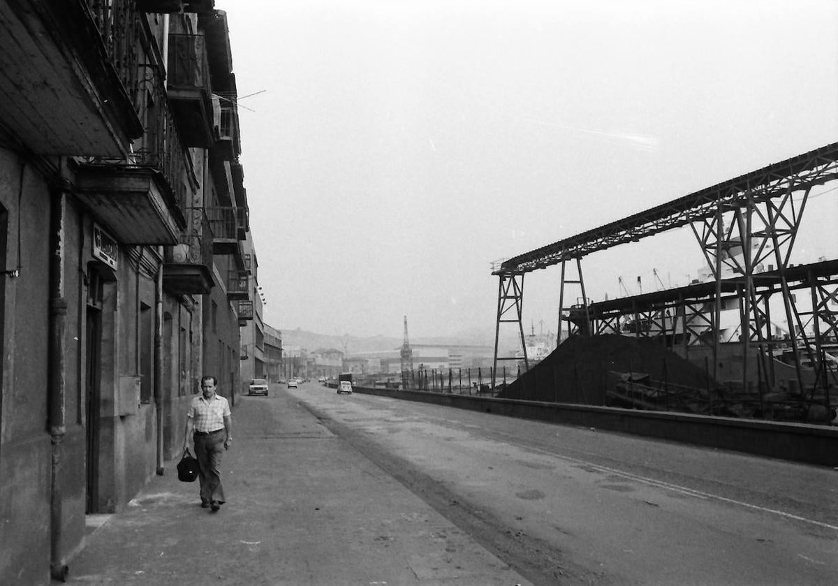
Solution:
<svg viewBox="0 0 838 586">
<path fill-rule="evenodd" d="M 216 8 L 239 95 L 262 92 L 241 162 L 280 329 L 494 335 L 491 262 L 838 140 L 835 0 Z M 830 189 L 800 262 L 838 257 Z M 687 228 L 582 267 L 601 300 L 701 262 Z M 560 273 L 525 277 L 528 330 L 556 331 Z"/>
</svg>

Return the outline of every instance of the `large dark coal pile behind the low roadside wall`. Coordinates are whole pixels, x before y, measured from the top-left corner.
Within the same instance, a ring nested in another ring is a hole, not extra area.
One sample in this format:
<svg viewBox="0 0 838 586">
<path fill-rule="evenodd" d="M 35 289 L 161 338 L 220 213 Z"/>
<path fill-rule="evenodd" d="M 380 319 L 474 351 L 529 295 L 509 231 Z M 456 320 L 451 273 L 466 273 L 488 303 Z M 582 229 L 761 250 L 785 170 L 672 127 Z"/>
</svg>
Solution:
<svg viewBox="0 0 838 586">
<path fill-rule="evenodd" d="M 498 397 L 605 405 L 613 373 L 642 373 L 654 381 L 695 389 L 716 387 L 703 369 L 667 350 L 659 340 L 577 335 L 511 382 Z"/>
</svg>

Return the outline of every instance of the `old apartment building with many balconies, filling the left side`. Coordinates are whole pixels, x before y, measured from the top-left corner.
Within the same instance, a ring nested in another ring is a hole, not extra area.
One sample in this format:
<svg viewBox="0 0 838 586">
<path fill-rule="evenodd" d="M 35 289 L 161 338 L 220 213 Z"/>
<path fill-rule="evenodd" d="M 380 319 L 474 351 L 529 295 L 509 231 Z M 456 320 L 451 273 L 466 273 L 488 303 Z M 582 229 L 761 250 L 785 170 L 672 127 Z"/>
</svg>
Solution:
<svg viewBox="0 0 838 586">
<path fill-rule="evenodd" d="M 252 246 L 214 0 L 0 0 L 0 583 L 64 578 L 85 516 L 235 405 Z"/>
</svg>

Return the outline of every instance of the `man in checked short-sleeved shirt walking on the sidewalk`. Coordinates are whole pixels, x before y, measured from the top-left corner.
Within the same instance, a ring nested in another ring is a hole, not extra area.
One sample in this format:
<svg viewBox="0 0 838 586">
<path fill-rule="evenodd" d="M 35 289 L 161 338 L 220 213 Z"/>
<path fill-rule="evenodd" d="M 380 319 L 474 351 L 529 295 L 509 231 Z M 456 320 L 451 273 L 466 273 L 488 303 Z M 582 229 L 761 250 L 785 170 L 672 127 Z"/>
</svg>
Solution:
<svg viewBox="0 0 838 586">
<path fill-rule="evenodd" d="M 192 433 L 193 451 L 199 466 L 201 506 L 209 506 L 213 512 L 224 504 L 221 454 L 233 441 L 230 404 L 224 397 L 215 394 L 216 386 L 218 379 L 215 376 L 204 376 L 201 379 L 201 394 L 189 405 L 184 433 L 184 450 L 189 447 L 189 434 Z"/>
</svg>

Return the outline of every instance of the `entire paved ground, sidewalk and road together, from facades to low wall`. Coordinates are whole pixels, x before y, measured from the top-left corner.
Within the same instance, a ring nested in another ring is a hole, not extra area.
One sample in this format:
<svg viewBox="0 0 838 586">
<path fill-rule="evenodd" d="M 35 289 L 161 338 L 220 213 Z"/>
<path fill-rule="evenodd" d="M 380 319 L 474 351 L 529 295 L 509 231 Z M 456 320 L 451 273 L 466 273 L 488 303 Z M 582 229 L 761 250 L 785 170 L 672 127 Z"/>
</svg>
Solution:
<svg viewBox="0 0 838 586">
<path fill-rule="evenodd" d="M 832 469 L 307 383 L 242 397 L 213 514 L 174 463 L 85 584 L 831 584 Z"/>
</svg>

